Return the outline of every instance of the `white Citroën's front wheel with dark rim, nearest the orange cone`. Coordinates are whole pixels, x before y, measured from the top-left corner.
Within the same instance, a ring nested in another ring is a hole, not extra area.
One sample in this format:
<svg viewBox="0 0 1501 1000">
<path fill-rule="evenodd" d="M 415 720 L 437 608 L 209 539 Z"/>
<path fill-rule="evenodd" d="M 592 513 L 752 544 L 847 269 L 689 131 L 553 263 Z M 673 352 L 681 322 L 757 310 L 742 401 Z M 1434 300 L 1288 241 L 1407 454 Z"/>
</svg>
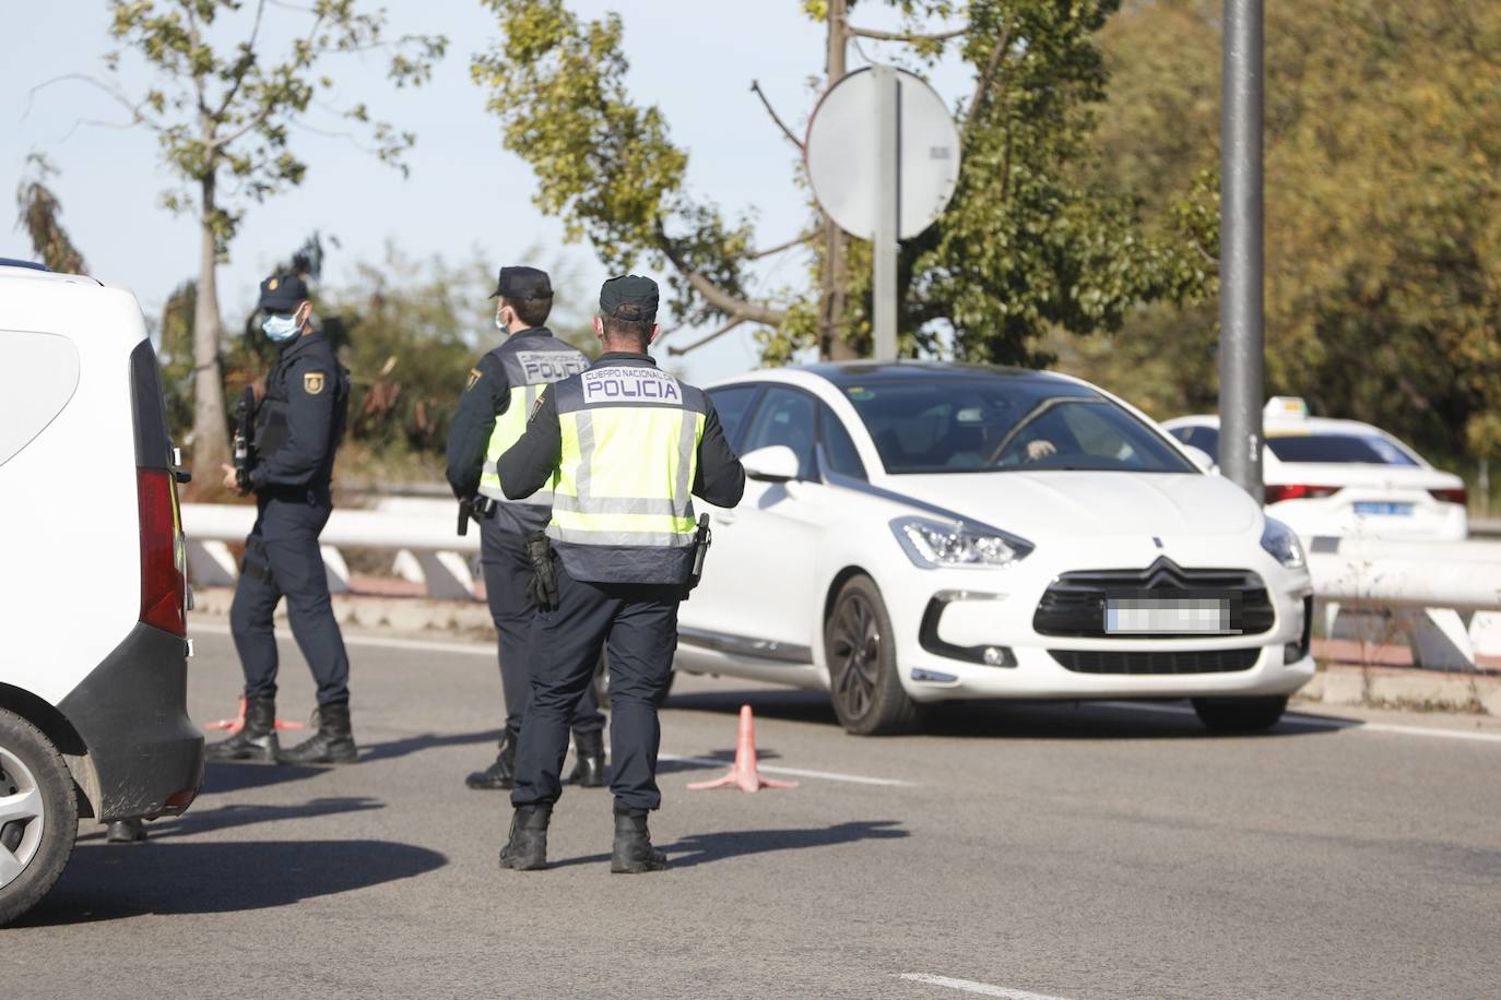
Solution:
<svg viewBox="0 0 1501 1000">
<path fill-rule="evenodd" d="M 896 643 L 886 603 L 868 576 L 851 577 L 824 624 L 835 715 L 857 736 L 901 733 L 917 724 L 917 705 L 896 676 Z"/>
</svg>

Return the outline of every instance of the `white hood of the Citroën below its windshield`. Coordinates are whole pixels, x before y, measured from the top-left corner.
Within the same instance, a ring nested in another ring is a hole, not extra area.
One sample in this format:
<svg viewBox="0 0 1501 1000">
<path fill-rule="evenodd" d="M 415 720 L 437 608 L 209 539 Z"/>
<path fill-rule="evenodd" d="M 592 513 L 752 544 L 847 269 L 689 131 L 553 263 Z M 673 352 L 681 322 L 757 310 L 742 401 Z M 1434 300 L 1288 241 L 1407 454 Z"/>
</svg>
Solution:
<svg viewBox="0 0 1501 1000">
<path fill-rule="evenodd" d="M 1237 535 L 1261 508 L 1217 475 L 1144 472 L 964 472 L 892 475 L 895 493 L 1024 538 L 1073 535 Z"/>
</svg>

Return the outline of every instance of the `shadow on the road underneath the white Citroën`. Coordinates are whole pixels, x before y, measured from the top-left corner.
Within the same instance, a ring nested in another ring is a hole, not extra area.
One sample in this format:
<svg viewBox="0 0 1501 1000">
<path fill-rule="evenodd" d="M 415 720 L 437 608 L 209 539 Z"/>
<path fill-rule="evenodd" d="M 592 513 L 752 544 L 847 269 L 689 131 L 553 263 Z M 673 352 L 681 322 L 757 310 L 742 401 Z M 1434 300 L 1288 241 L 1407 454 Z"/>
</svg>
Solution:
<svg viewBox="0 0 1501 1000">
<path fill-rule="evenodd" d="M 693 691 L 668 699 L 665 708 L 734 715 L 741 705 L 749 705 L 758 718 L 839 726 L 829 696 L 821 691 Z M 1288 718 L 1261 733 L 1216 733 L 1199 723 L 1186 702 L 1145 705 L 1165 711 L 1099 702 L 950 702 L 929 706 L 916 735 L 986 739 L 1220 739 L 1304 736 L 1319 732 L 1318 727 Z M 1174 711 L 1175 708 L 1183 711 Z"/>
</svg>

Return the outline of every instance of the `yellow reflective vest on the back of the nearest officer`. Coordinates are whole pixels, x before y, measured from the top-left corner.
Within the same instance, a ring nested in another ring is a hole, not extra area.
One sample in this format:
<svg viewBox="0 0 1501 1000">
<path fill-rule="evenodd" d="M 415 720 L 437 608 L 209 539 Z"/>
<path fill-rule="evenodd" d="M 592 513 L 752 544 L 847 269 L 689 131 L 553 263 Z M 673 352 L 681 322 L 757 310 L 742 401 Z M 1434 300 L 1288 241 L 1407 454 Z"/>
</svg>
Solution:
<svg viewBox="0 0 1501 1000">
<path fill-rule="evenodd" d="M 615 370 L 626 382 L 644 379 L 653 388 L 671 379 L 656 369 Z M 612 549 L 692 547 L 698 525 L 690 490 L 705 414 L 696 394 L 684 399 L 687 387 L 671 381 L 677 405 L 654 402 L 662 397 L 647 393 L 641 403 L 587 405 L 575 379 L 560 385 L 563 447 L 548 525 L 554 541 Z"/>
</svg>

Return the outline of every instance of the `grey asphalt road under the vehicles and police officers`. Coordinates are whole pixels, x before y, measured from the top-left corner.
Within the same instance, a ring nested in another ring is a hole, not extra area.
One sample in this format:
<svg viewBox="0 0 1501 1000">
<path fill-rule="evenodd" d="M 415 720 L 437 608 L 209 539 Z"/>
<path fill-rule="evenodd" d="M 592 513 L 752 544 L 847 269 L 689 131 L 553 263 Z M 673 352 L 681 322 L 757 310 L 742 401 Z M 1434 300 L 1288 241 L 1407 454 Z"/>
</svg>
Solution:
<svg viewBox="0 0 1501 1000">
<path fill-rule="evenodd" d="M 191 708 L 233 709 L 200 622 Z M 570 790 L 545 873 L 501 871 L 488 651 L 351 643 L 363 760 L 212 766 L 138 847 L 86 822 L 6 997 L 1496 996 L 1501 736 L 1307 718 L 1210 736 L 1171 706 L 974 706 L 845 736 L 802 693 L 684 678 L 663 717 L 660 876 L 611 876 Z M 284 643 L 282 715 L 312 684 Z M 741 702 L 787 792 L 689 792 Z M 1450 726 L 1453 720 L 1447 720 Z M 1417 718 L 1408 726 L 1445 724 Z M 296 738 L 296 735 L 293 735 Z M 823 772 L 823 774 L 788 774 Z"/>
</svg>

